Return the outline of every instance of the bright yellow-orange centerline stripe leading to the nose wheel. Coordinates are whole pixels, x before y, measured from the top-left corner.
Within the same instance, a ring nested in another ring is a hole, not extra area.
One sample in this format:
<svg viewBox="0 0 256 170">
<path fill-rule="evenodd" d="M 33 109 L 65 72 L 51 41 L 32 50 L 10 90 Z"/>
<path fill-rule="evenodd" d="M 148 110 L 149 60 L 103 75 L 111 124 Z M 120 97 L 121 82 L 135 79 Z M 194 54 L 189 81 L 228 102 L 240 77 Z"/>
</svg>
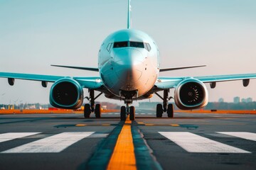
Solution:
<svg viewBox="0 0 256 170">
<path fill-rule="evenodd" d="M 129 116 L 127 116 L 124 126 L 117 138 L 117 143 L 107 169 L 137 169 L 131 123 L 132 121 L 129 120 Z"/>
</svg>

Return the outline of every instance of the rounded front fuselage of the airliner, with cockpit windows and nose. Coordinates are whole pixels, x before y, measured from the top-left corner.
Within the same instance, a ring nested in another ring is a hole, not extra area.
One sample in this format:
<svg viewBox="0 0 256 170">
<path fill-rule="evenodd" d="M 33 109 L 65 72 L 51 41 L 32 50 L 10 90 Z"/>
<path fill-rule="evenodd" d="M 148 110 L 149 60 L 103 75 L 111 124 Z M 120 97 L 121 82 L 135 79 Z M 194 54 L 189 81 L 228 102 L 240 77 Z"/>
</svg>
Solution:
<svg viewBox="0 0 256 170">
<path fill-rule="evenodd" d="M 146 94 L 159 74 L 159 50 L 154 40 L 140 30 L 125 29 L 109 35 L 98 56 L 100 77 L 115 96 L 121 91 Z"/>
</svg>

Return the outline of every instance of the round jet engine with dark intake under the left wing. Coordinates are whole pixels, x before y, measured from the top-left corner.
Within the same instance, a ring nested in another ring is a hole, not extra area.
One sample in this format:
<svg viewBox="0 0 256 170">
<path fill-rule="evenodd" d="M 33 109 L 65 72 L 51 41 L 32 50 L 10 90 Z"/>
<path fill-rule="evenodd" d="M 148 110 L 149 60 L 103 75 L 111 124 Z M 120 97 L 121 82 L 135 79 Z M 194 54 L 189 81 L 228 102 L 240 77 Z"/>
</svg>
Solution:
<svg viewBox="0 0 256 170">
<path fill-rule="evenodd" d="M 82 101 L 82 87 L 74 79 L 60 79 L 50 88 L 50 104 L 56 108 L 77 109 Z"/>
</svg>

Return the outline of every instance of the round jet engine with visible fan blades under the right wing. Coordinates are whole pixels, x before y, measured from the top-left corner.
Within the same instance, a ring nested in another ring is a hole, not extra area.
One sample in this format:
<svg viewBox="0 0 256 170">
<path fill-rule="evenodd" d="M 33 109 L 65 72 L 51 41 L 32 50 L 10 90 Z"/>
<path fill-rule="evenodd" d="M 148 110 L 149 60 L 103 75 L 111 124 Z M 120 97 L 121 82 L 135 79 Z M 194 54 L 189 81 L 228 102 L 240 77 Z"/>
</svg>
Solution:
<svg viewBox="0 0 256 170">
<path fill-rule="evenodd" d="M 182 110 L 203 108 L 208 103 L 206 85 L 198 79 L 185 79 L 175 89 L 174 101 Z"/>
</svg>

